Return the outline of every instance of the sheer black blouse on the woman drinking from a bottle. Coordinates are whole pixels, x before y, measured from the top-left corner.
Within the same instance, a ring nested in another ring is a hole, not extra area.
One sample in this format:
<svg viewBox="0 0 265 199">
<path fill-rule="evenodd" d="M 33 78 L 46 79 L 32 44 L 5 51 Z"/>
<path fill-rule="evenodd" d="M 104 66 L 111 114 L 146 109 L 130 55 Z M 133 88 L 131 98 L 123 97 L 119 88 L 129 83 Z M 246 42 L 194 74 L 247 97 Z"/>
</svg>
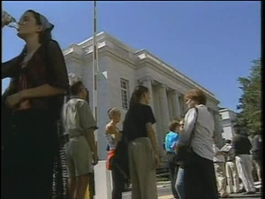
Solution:
<svg viewBox="0 0 265 199">
<path fill-rule="evenodd" d="M 26 53 L 21 53 L 18 57 L 2 64 L 2 79 L 11 78 L 9 95 L 17 93 L 23 88 L 21 76 L 27 80 L 27 89 L 49 84 L 68 91 L 69 80 L 64 55 L 56 41 L 50 40 L 48 43 L 42 44 L 27 62 L 27 66 L 22 68 L 21 63 L 25 56 Z M 64 96 L 31 98 L 29 101 L 31 109 L 55 111 L 55 109 L 61 108 Z"/>
</svg>

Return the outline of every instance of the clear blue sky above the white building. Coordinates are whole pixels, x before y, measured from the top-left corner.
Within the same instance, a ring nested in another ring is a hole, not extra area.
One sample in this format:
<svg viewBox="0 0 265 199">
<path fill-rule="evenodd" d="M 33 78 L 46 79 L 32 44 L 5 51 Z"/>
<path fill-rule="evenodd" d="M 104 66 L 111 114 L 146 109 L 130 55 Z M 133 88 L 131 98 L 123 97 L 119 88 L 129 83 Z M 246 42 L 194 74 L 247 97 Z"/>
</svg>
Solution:
<svg viewBox="0 0 265 199">
<path fill-rule="evenodd" d="M 61 48 L 92 35 L 92 2 L 2 2 L 16 19 L 32 9 L 55 25 Z M 238 77 L 261 57 L 261 2 L 98 2 L 98 32 L 106 31 L 136 50 L 146 49 L 216 95 L 236 111 Z M 24 45 L 4 27 L 2 60 Z M 3 90 L 9 80 L 2 80 Z"/>
</svg>

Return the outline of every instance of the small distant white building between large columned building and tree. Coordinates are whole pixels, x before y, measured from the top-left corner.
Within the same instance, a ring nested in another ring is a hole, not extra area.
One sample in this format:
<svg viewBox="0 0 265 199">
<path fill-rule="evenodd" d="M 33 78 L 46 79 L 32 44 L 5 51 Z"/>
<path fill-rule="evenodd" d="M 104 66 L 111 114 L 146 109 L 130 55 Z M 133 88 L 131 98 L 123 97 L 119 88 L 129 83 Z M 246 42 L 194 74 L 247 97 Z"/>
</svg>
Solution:
<svg viewBox="0 0 265 199">
<path fill-rule="evenodd" d="M 236 118 L 237 113 L 226 108 L 219 110 L 220 124 L 223 127 L 222 136 L 226 140 L 231 140 L 235 134 L 232 120 Z"/>
</svg>

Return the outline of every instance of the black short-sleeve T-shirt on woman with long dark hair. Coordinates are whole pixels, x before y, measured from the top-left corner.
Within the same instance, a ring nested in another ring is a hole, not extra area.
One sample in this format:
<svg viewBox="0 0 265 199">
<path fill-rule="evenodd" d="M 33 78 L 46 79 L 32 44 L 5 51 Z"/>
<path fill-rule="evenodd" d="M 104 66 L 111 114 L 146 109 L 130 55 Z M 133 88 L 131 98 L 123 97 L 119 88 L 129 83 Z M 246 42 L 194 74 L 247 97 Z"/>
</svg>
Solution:
<svg viewBox="0 0 265 199">
<path fill-rule="evenodd" d="M 155 116 L 150 106 L 138 103 L 126 113 L 124 130 L 128 140 L 148 137 L 146 125 L 155 124 Z"/>
</svg>

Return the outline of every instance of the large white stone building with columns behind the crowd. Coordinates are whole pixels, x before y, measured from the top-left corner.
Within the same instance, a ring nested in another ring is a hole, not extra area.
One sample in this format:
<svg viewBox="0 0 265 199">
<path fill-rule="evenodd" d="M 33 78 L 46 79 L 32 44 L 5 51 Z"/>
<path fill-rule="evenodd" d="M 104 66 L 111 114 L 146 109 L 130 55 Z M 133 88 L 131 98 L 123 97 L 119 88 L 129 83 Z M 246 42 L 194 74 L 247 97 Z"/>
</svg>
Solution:
<svg viewBox="0 0 265 199">
<path fill-rule="evenodd" d="M 155 132 L 163 155 L 164 135 L 168 132 L 170 119 L 179 118 L 186 111 L 184 95 L 191 88 L 200 88 L 208 97 L 208 108 L 216 120 L 216 131 L 220 132 L 218 103 L 215 95 L 199 84 L 179 73 L 148 50 L 133 48 L 118 41 L 107 33 L 97 34 L 100 73 L 107 73 L 107 79 L 98 80 L 98 121 L 99 157 L 106 158 L 105 125 L 109 121 L 107 111 L 118 107 L 122 111 L 122 120 L 129 106 L 133 88 L 142 84 L 151 91 L 151 107 L 155 114 Z M 92 107 L 92 54 L 93 38 L 79 44 L 71 44 L 64 50 L 68 73 L 82 77 L 89 90 L 89 102 Z M 119 126 L 122 128 L 122 126 Z"/>
</svg>

